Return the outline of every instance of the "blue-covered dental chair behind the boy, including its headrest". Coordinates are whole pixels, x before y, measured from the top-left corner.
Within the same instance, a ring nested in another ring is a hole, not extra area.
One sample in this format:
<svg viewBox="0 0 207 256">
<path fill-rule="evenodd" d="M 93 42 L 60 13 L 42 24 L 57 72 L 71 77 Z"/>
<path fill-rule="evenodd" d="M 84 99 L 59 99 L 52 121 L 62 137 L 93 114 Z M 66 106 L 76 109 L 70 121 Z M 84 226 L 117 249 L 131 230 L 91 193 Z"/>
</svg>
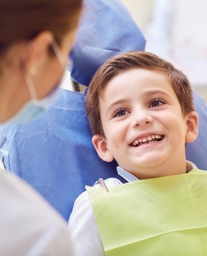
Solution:
<svg viewBox="0 0 207 256">
<path fill-rule="evenodd" d="M 118 0 L 85 0 L 84 4 L 70 58 L 71 77 L 88 86 L 106 59 L 144 50 L 145 39 Z M 194 93 L 200 134 L 197 141 L 187 145 L 187 159 L 207 169 L 207 106 Z M 103 162 L 92 146 L 84 99 L 85 94 L 60 89 L 43 117 L 25 125 L 0 127 L 0 157 L 5 169 L 35 188 L 66 220 L 86 184 L 116 176 L 116 162 Z"/>
</svg>

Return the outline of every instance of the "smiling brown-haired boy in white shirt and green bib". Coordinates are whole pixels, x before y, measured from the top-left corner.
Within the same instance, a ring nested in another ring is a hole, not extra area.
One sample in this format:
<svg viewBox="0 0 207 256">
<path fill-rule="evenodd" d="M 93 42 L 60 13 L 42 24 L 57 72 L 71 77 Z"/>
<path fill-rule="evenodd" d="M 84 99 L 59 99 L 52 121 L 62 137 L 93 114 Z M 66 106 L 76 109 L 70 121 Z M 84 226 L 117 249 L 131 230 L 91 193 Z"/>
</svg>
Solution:
<svg viewBox="0 0 207 256">
<path fill-rule="evenodd" d="M 115 158 L 118 175 L 76 200 L 69 227 L 78 255 L 194 255 L 198 247 L 205 253 L 205 242 L 194 239 L 207 239 L 205 216 L 190 206 L 202 193 L 207 209 L 200 182 L 207 176 L 186 161 L 186 143 L 198 133 L 186 76 L 151 53 L 117 55 L 91 80 L 86 113 L 96 152 L 106 162 Z M 173 248 L 179 240 L 183 248 Z"/>
</svg>

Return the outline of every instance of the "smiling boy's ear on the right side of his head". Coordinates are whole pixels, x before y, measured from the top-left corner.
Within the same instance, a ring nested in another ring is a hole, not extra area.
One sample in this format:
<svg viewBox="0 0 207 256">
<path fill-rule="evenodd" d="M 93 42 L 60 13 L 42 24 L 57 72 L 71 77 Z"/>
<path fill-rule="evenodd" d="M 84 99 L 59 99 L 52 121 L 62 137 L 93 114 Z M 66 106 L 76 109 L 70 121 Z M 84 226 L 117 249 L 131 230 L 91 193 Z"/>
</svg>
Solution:
<svg viewBox="0 0 207 256">
<path fill-rule="evenodd" d="M 187 115 L 187 131 L 186 131 L 186 142 L 193 142 L 198 135 L 198 115 L 195 111 L 191 111 Z"/>
</svg>

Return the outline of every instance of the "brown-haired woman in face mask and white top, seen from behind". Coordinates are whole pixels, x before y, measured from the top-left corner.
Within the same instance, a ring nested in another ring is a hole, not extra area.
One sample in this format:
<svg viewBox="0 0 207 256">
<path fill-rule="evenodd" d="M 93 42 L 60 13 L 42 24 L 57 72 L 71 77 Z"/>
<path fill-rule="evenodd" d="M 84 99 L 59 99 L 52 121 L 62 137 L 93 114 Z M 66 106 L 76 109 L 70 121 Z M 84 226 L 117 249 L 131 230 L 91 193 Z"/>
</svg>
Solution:
<svg viewBox="0 0 207 256">
<path fill-rule="evenodd" d="M 25 123 L 47 111 L 67 67 L 81 2 L 0 1 L 0 124 Z M 74 255 L 61 216 L 4 172 L 0 208 L 0 255 Z"/>
</svg>

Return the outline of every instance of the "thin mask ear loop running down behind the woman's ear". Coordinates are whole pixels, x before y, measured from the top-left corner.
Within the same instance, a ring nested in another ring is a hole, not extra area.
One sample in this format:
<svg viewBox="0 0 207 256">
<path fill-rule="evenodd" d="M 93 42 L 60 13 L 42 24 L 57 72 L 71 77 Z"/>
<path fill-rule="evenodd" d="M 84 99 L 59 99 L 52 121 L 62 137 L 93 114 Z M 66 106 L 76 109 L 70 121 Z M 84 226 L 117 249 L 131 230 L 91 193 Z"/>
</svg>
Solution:
<svg viewBox="0 0 207 256">
<path fill-rule="evenodd" d="M 23 53 L 22 53 L 22 57 L 21 57 L 21 68 L 22 68 L 22 73 L 25 77 L 25 82 L 26 82 L 26 85 L 27 85 L 27 88 L 28 88 L 28 91 L 29 91 L 29 94 L 30 94 L 30 99 L 31 100 L 37 100 L 37 94 L 36 94 L 36 91 L 35 91 L 35 85 L 32 81 L 32 78 L 31 78 L 31 75 L 29 74 L 29 72 L 27 72 L 26 68 L 25 68 L 25 62 L 26 62 L 26 52 L 29 48 L 29 46 L 32 44 L 32 42 L 28 42 L 26 45 L 25 45 L 25 48 L 23 50 Z"/>
</svg>

